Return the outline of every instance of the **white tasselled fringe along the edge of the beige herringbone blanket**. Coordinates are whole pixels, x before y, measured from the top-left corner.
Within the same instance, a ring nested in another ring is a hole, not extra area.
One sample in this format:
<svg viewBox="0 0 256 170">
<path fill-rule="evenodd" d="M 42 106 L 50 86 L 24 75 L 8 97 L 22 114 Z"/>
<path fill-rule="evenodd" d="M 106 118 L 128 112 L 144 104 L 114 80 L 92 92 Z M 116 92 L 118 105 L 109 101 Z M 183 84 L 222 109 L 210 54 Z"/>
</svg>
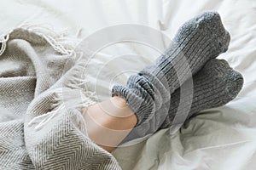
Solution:
<svg viewBox="0 0 256 170">
<path fill-rule="evenodd" d="M 82 54 L 77 54 L 74 50 L 79 41 L 75 38 L 68 37 L 67 31 L 57 33 L 54 31 L 54 29 L 49 27 L 29 24 L 21 25 L 16 29 L 32 32 L 38 37 L 43 37 L 42 40 L 48 42 L 56 52 L 70 55 L 77 62 L 83 59 Z M 15 34 L 15 30 L 10 31 L 8 35 L 0 37 L 0 43 L 2 43 L 0 55 L 3 54 L 4 50 L 6 49 L 6 43 L 12 38 L 12 32 Z M 56 94 L 56 102 L 52 104 L 51 111 L 43 115 L 33 117 L 32 120 L 28 122 L 28 127 L 32 127 L 33 124 L 36 124 L 34 128 L 35 130 L 39 130 L 64 110 L 67 111 L 70 109 L 75 109 L 81 112 L 83 111 L 83 108 L 96 104 L 98 101 L 96 94 L 86 89 L 86 84 L 88 81 L 77 74 L 79 71 L 83 70 L 83 63 L 79 63 L 79 65 L 76 65 L 76 67 L 77 68 L 73 70 L 73 74 L 70 75 L 69 81 L 67 81 L 67 84 L 65 85 L 67 88 L 62 87 L 52 91 L 52 93 Z"/>
</svg>

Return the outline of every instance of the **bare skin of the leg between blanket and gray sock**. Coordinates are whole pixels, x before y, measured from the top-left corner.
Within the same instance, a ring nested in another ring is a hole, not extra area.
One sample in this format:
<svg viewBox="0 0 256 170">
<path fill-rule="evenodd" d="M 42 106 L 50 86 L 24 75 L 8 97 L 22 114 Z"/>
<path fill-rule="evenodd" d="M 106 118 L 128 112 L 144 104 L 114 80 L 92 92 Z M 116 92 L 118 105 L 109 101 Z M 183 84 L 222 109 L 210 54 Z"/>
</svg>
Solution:
<svg viewBox="0 0 256 170">
<path fill-rule="evenodd" d="M 111 152 L 137 123 L 125 99 L 113 97 L 84 109 L 89 138 Z"/>
</svg>

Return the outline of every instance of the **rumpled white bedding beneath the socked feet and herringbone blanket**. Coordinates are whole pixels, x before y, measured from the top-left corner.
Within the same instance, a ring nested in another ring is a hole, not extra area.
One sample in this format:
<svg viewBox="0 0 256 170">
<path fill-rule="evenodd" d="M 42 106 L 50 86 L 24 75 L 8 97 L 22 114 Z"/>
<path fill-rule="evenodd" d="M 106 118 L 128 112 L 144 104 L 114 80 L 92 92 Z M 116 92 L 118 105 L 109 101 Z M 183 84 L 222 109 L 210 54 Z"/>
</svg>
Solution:
<svg viewBox="0 0 256 170">
<path fill-rule="evenodd" d="M 255 0 L 0 0 L 0 34 L 20 24 L 67 29 L 80 39 L 119 24 L 150 26 L 172 37 L 185 20 L 217 10 L 230 31 L 227 59 L 245 78 L 241 94 L 228 105 L 203 111 L 172 135 L 169 129 L 147 141 L 114 150 L 123 169 L 256 169 L 256 1 Z M 105 38 L 105 37 L 102 37 Z M 162 37 L 154 40 L 166 47 Z M 143 57 L 129 58 L 127 54 Z M 150 63 L 158 52 L 143 44 L 113 44 L 90 60 L 89 90 L 107 98 L 114 82 Z M 120 57 L 123 55 L 123 57 Z M 119 56 L 117 58 L 117 56 Z M 124 71 L 124 74 L 119 74 Z M 98 75 L 101 75 L 98 77 Z M 113 79 L 114 78 L 114 79 Z M 109 82 L 112 80 L 113 82 Z"/>
</svg>

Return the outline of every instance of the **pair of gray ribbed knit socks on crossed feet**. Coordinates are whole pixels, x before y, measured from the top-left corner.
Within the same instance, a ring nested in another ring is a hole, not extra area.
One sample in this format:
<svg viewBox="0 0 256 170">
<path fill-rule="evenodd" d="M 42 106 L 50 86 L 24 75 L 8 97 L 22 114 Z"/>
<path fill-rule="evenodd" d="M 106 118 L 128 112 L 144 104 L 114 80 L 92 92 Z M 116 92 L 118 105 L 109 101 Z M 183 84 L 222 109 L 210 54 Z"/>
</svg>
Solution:
<svg viewBox="0 0 256 170">
<path fill-rule="evenodd" d="M 242 87 L 241 74 L 215 59 L 229 43 L 230 34 L 218 13 L 199 14 L 180 27 L 154 65 L 129 77 L 126 87 L 114 86 L 113 96 L 125 99 L 137 116 L 127 139 L 182 123 L 177 117 L 186 119 L 234 99 Z M 189 88 L 181 90 L 185 85 Z"/>
</svg>

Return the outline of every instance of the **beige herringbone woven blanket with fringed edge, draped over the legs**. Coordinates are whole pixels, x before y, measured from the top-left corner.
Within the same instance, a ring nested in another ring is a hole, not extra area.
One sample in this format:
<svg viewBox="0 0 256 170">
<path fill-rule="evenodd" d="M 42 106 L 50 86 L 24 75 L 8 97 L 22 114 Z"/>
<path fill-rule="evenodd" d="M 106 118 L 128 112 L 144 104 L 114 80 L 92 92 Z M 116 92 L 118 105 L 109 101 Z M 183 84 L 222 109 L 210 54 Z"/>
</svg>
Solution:
<svg viewBox="0 0 256 170">
<path fill-rule="evenodd" d="M 87 135 L 86 57 L 63 37 L 18 28 L 0 37 L 0 169 L 120 169 Z"/>
</svg>

